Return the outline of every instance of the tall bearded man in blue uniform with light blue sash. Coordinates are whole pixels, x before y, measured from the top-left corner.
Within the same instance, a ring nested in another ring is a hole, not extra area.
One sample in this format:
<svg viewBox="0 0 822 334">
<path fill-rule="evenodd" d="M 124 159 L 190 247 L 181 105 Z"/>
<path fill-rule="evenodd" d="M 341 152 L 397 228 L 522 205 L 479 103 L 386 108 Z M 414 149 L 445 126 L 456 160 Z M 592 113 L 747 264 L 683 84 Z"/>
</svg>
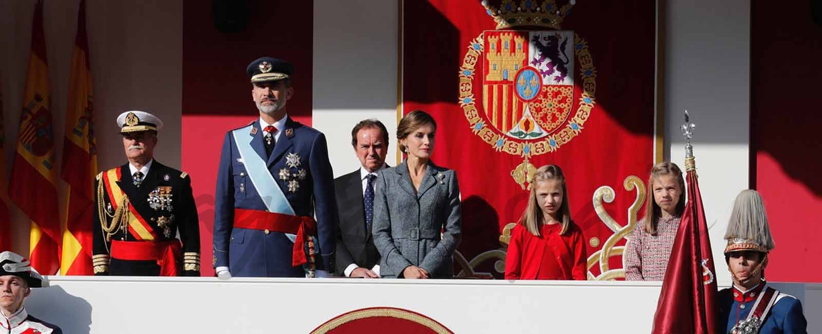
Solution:
<svg viewBox="0 0 822 334">
<path fill-rule="evenodd" d="M 286 114 L 293 72 L 290 63 L 269 57 L 247 67 L 260 117 L 223 141 L 212 263 L 220 277 L 333 271 L 334 174 L 325 135 Z"/>
</svg>

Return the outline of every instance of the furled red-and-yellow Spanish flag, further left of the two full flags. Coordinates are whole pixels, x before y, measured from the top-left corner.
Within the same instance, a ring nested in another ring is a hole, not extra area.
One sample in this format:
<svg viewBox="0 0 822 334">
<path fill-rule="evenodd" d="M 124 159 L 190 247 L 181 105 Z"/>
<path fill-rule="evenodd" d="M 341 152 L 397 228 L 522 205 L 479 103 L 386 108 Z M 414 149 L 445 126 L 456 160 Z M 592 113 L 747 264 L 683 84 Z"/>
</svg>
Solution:
<svg viewBox="0 0 822 334">
<path fill-rule="evenodd" d="M 31 265 L 43 275 L 57 273 L 60 263 L 57 170 L 50 102 L 43 1 L 40 0 L 31 27 L 28 76 L 8 193 L 31 220 L 29 258 Z"/>
</svg>

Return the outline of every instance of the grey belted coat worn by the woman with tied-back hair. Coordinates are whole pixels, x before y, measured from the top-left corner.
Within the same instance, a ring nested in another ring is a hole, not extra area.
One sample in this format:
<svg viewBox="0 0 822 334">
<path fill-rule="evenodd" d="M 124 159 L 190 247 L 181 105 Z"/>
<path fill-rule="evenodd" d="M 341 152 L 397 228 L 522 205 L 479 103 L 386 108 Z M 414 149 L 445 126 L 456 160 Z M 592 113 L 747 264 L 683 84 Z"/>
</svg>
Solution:
<svg viewBox="0 0 822 334">
<path fill-rule="evenodd" d="M 461 230 L 455 171 L 429 161 L 418 191 L 406 161 L 380 173 L 372 233 L 382 257 L 381 276 L 402 277 L 412 265 L 428 271 L 431 278 L 454 276 L 452 255 Z"/>
</svg>

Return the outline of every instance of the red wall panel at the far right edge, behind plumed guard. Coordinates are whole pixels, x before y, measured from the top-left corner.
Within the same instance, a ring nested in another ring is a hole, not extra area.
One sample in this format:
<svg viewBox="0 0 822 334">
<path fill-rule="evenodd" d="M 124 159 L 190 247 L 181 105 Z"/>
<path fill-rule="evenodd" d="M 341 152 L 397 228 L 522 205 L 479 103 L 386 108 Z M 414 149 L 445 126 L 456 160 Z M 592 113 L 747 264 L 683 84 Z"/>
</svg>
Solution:
<svg viewBox="0 0 822 334">
<path fill-rule="evenodd" d="M 768 280 L 822 282 L 822 267 L 806 265 L 822 253 L 822 26 L 807 1 L 782 8 L 774 15 L 750 2 L 751 188 L 762 193 L 776 244 Z"/>
</svg>

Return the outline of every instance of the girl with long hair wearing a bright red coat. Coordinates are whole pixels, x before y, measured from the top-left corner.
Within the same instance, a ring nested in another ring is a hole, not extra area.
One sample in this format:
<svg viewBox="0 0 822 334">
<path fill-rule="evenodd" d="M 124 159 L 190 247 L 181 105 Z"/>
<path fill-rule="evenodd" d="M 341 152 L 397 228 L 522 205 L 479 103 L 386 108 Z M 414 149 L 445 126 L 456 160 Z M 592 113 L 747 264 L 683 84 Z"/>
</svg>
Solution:
<svg viewBox="0 0 822 334">
<path fill-rule="evenodd" d="M 562 169 L 540 167 L 533 175 L 528 206 L 511 230 L 506 280 L 584 281 L 587 259 L 582 230 L 570 219 Z"/>
</svg>

